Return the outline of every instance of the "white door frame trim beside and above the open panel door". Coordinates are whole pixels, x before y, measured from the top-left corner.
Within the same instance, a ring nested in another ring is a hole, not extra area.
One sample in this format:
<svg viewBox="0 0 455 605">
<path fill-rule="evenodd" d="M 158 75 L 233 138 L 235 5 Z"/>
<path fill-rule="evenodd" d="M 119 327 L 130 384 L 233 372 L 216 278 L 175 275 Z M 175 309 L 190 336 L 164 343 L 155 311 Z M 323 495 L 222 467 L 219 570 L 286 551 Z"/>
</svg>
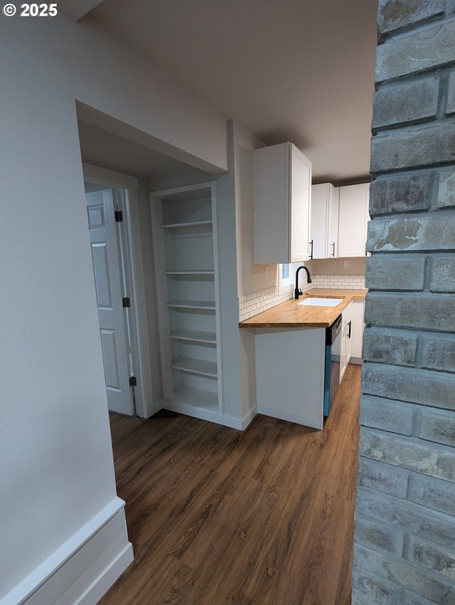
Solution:
<svg viewBox="0 0 455 605">
<path fill-rule="evenodd" d="M 129 324 L 132 339 L 132 359 L 137 386 L 134 388 L 135 409 L 137 416 L 149 418 L 155 413 L 151 372 L 144 368 L 151 367 L 149 335 L 147 330 L 146 296 L 144 290 L 144 267 L 141 253 L 141 233 L 139 221 L 139 179 L 128 174 L 114 172 L 93 164 L 82 162 L 84 181 L 105 185 L 107 188 L 127 189 L 124 196 L 124 269 L 128 293 L 131 302 L 129 307 Z"/>
</svg>

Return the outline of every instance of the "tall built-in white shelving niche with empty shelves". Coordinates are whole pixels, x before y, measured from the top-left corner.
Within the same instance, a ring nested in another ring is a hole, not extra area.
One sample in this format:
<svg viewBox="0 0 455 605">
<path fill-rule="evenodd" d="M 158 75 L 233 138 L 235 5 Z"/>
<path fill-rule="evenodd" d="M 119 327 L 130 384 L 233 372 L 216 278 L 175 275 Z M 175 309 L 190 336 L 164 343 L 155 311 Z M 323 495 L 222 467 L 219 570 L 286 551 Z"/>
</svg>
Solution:
<svg viewBox="0 0 455 605">
<path fill-rule="evenodd" d="M 216 421 L 223 406 L 214 184 L 150 198 L 164 407 Z"/>
</svg>

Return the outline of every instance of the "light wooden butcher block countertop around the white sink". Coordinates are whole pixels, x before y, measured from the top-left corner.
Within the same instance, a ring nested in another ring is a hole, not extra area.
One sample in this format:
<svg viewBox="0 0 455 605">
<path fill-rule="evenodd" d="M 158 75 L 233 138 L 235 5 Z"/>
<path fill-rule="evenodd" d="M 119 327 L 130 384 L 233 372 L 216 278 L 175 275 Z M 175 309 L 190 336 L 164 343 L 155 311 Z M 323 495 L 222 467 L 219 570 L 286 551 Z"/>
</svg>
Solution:
<svg viewBox="0 0 455 605">
<path fill-rule="evenodd" d="M 240 322 L 240 327 L 328 327 L 343 312 L 351 300 L 365 300 L 367 290 L 331 290 L 313 288 L 301 295 L 299 300 L 287 300 L 272 309 L 267 309 L 249 320 Z M 305 298 L 341 298 L 336 307 L 298 305 Z"/>
</svg>

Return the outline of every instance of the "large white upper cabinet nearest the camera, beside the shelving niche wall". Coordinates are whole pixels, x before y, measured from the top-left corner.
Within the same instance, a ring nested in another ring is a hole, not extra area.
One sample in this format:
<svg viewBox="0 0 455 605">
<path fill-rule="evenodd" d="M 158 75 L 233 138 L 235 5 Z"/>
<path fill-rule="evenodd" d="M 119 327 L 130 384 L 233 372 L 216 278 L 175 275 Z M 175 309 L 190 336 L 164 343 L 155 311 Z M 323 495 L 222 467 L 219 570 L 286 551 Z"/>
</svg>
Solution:
<svg viewBox="0 0 455 605">
<path fill-rule="evenodd" d="M 309 259 L 311 162 L 292 143 L 253 152 L 254 262 Z"/>
</svg>

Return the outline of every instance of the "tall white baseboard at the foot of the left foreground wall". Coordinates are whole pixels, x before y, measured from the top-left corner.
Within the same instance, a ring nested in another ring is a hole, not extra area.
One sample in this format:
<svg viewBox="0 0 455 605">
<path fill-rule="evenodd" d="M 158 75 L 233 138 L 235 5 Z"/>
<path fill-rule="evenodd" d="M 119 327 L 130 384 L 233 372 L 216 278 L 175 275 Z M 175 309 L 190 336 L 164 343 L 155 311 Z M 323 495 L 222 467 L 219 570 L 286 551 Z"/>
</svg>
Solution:
<svg viewBox="0 0 455 605">
<path fill-rule="evenodd" d="M 0 605 L 96 605 L 133 558 L 124 501 L 114 498 Z"/>
</svg>

